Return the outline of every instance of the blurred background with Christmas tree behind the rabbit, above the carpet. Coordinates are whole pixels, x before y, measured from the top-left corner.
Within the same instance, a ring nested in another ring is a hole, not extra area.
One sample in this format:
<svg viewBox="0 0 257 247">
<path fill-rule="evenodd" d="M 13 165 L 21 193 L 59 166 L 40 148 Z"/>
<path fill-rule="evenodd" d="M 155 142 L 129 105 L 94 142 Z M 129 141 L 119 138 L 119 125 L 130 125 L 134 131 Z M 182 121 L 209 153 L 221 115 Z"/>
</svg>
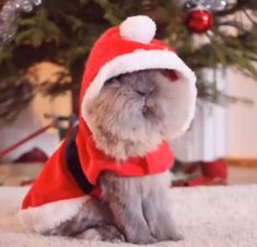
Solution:
<svg viewBox="0 0 257 247">
<path fill-rule="evenodd" d="M 90 49 L 147 14 L 196 71 L 189 131 L 172 141 L 175 186 L 257 183 L 255 0 L 0 0 L 0 185 L 33 183 L 78 116 Z"/>
</svg>

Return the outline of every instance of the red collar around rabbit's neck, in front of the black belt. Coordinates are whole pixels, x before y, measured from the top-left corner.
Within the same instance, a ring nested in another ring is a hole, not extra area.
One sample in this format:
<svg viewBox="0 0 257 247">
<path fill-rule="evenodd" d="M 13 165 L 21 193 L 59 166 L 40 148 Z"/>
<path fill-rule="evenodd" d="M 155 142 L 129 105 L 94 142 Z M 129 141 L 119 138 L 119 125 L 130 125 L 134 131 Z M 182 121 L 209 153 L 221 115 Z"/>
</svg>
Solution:
<svg viewBox="0 0 257 247">
<path fill-rule="evenodd" d="M 80 126 L 80 133 L 82 132 L 83 134 L 77 136 L 77 146 L 80 146 L 81 150 L 79 155 L 83 172 L 92 185 L 96 185 L 103 170 L 109 170 L 121 176 L 143 176 L 163 173 L 174 162 L 174 155 L 168 143 L 164 142 L 155 151 L 147 154 L 145 157 L 133 157 L 118 164 L 114 158 L 95 148 L 89 129 L 83 125 Z"/>
</svg>

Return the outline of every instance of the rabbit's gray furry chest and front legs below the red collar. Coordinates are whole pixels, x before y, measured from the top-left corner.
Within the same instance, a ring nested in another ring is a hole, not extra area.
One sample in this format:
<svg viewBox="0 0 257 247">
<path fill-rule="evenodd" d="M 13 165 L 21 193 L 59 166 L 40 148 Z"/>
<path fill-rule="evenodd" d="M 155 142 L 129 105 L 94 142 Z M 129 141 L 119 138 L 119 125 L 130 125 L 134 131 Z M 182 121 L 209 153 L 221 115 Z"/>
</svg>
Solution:
<svg viewBox="0 0 257 247">
<path fill-rule="evenodd" d="M 103 199 L 128 242 L 151 244 L 180 239 L 170 211 L 170 173 L 140 178 L 102 175 Z"/>
</svg>

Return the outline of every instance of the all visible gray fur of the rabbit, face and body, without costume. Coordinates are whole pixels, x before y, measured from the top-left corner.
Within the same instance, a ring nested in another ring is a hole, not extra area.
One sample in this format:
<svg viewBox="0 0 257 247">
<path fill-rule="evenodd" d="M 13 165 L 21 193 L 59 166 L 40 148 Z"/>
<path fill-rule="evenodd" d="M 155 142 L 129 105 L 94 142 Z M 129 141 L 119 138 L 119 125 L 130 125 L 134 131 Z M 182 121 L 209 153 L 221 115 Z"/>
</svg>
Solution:
<svg viewBox="0 0 257 247">
<path fill-rule="evenodd" d="M 105 83 L 85 105 L 86 122 L 98 149 L 117 161 L 144 156 L 176 128 L 174 91 L 164 70 L 127 73 Z M 145 177 L 103 174 L 100 200 L 85 202 L 71 221 L 50 235 L 151 244 L 178 240 L 170 211 L 168 173 Z"/>
</svg>

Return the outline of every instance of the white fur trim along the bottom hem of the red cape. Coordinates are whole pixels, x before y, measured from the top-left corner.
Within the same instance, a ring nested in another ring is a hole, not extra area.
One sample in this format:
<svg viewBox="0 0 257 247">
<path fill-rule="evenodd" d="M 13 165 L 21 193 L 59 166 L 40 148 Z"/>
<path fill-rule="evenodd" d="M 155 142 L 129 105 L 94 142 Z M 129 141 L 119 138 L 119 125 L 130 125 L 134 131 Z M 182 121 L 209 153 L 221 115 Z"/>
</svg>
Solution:
<svg viewBox="0 0 257 247">
<path fill-rule="evenodd" d="M 89 198 L 89 196 L 83 196 L 20 210 L 19 219 L 28 228 L 43 233 L 72 219 Z"/>
</svg>

